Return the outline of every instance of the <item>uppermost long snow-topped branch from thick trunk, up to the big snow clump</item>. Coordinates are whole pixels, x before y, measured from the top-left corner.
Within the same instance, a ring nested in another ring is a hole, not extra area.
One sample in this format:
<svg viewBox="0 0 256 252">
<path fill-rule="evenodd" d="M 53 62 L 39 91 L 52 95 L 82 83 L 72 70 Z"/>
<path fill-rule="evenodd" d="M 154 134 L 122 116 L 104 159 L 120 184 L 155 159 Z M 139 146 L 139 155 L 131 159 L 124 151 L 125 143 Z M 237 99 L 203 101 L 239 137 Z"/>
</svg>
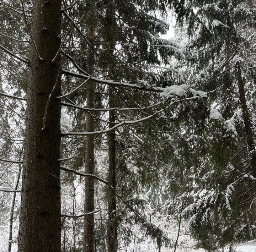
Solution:
<svg viewBox="0 0 256 252">
<path fill-rule="evenodd" d="M 91 77 L 89 75 L 82 75 L 81 73 L 71 72 L 71 71 L 68 71 L 66 69 L 62 69 L 62 73 L 65 74 L 65 75 L 70 75 L 70 76 L 78 77 L 78 78 L 81 78 L 81 79 L 89 79 Z M 96 78 L 96 77 L 91 77 L 91 80 L 93 80 L 95 82 L 98 82 L 98 83 L 102 83 L 102 84 L 113 85 L 113 86 L 117 86 L 117 87 L 138 89 L 138 90 L 143 90 L 143 91 L 148 91 L 148 92 L 149 91 L 150 92 L 163 92 L 164 91 L 164 88 L 156 88 L 156 87 L 146 88 L 146 87 L 141 87 L 138 84 L 118 82 L 118 81 L 113 81 L 113 80 L 101 80 L 101 79 Z M 59 98 L 59 97 L 57 97 L 57 98 Z"/>
</svg>

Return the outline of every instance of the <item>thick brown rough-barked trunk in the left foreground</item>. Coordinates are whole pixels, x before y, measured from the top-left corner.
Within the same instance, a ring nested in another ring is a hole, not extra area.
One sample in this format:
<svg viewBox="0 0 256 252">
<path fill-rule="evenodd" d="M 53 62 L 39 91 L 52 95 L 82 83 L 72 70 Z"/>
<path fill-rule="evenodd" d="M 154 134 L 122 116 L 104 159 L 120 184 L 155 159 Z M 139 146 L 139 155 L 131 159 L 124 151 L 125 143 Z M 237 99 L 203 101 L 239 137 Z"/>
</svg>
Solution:
<svg viewBox="0 0 256 252">
<path fill-rule="evenodd" d="M 60 252 L 60 8 L 33 1 L 18 252 Z"/>
</svg>

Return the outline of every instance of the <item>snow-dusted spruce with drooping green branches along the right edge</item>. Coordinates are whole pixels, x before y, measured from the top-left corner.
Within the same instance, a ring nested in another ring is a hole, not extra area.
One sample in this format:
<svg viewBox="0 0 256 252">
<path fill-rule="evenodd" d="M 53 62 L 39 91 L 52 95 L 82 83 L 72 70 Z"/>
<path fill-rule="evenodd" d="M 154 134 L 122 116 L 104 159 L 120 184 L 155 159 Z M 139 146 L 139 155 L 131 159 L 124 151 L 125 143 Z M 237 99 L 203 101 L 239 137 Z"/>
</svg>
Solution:
<svg viewBox="0 0 256 252">
<path fill-rule="evenodd" d="M 252 3 L 251 3 L 252 4 Z M 254 9 L 244 1 L 175 2 L 190 35 L 190 78 L 209 99 L 198 136 L 189 230 L 209 251 L 254 236 Z M 196 10 L 196 11 L 195 11 Z M 204 142 L 204 143 L 203 143 Z M 193 146 L 190 144 L 191 147 Z"/>
</svg>

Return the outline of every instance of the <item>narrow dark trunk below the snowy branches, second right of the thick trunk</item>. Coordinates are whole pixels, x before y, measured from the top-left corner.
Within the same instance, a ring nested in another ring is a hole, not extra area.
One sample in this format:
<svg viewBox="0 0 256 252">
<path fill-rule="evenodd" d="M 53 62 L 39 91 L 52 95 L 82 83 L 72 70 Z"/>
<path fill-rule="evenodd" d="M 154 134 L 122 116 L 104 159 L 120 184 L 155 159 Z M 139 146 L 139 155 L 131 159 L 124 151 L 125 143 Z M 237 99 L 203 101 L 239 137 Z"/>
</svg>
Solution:
<svg viewBox="0 0 256 252">
<path fill-rule="evenodd" d="M 109 88 L 109 107 L 114 108 L 114 91 Z M 114 110 L 109 112 L 109 128 L 115 124 Z M 108 182 L 116 189 L 116 132 L 108 133 Z M 116 195 L 108 188 L 108 252 L 117 251 Z"/>
</svg>

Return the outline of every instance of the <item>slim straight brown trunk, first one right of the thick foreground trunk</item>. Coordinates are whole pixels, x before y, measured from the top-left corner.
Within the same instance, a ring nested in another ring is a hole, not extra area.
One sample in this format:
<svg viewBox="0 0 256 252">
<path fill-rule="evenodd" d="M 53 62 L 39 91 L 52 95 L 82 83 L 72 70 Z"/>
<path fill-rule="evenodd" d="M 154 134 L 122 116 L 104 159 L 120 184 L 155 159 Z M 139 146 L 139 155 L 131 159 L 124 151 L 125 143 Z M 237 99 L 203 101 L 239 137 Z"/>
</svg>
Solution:
<svg viewBox="0 0 256 252">
<path fill-rule="evenodd" d="M 95 1 L 90 1 L 91 9 L 94 7 Z M 95 41 L 95 24 L 92 21 L 89 27 L 89 41 L 91 45 L 94 45 Z M 90 50 L 90 49 L 89 49 Z M 89 73 L 94 74 L 95 63 L 94 53 L 90 50 L 88 62 Z M 94 108 L 94 82 L 89 81 L 87 85 L 87 108 Z M 87 113 L 86 115 L 86 131 L 94 131 L 94 117 Z M 94 174 L 94 136 L 88 135 L 86 137 L 86 149 L 85 149 L 85 172 Z M 94 211 L 94 179 L 92 177 L 85 177 L 85 201 L 84 212 Z M 84 217 L 84 252 L 94 252 L 94 214 L 85 215 Z"/>
</svg>

